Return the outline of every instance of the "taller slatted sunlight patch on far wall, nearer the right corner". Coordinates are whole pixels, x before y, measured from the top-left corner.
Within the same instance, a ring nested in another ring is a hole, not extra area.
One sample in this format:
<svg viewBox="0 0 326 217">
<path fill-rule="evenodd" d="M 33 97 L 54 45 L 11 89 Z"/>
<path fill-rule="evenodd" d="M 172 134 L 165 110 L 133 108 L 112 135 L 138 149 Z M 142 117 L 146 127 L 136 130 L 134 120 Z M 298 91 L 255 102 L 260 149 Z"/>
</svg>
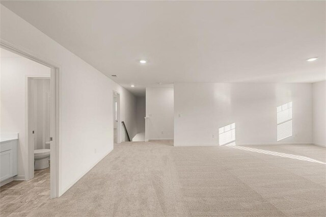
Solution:
<svg viewBox="0 0 326 217">
<path fill-rule="evenodd" d="M 292 136 L 292 102 L 285 103 L 277 110 L 277 141 Z"/>
</svg>

